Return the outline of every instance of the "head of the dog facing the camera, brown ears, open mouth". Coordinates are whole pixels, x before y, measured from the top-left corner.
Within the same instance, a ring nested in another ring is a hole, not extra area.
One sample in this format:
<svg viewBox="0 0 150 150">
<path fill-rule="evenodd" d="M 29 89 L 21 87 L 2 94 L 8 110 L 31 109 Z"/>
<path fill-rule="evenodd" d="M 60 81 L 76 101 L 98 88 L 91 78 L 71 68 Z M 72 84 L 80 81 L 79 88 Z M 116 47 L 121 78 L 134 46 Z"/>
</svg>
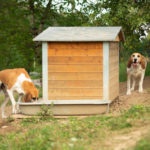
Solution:
<svg viewBox="0 0 150 150">
<path fill-rule="evenodd" d="M 141 65 L 143 69 L 145 69 L 145 60 L 144 60 L 144 56 L 141 55 L 140 53 L 133 53 L 128 61 L 128 68 L 131 67 L 131 65 L 133 65 L 134 67 Z"/>
</svg>

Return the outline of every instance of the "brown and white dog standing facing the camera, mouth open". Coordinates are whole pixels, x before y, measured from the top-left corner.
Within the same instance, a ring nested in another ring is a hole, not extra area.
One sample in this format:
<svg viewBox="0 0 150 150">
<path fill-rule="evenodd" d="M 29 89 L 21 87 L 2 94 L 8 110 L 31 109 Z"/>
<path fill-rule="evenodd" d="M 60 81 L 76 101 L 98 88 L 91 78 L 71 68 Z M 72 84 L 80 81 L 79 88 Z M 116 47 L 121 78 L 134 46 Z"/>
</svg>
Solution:
<svg viewBox="0 0 150 150">
<path fill-rule="evenodd" d="M 127 95 L 135 88 L 136 80 L 139 79 L 139 92 L 143 92 L 143 80 L 147 66 L 147 59 L 140 53 L 133 53 L 127 64 Z M 132 82 L 132 87 L 131 87 Z"/>
</svg>

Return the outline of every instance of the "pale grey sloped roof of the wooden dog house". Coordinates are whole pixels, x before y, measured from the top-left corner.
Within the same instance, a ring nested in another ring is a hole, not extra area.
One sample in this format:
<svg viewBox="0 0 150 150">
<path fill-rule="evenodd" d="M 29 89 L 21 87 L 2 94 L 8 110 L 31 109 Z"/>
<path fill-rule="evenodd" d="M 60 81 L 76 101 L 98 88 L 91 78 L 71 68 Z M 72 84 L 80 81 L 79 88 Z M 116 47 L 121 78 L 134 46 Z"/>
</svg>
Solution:
<svg viewBox="0 0 150 150">
<path fill-rule="evenodd" d="M 48 27 L 33 41 L 94 42 L 124 41 L 121 27 Z"/>
</svg>

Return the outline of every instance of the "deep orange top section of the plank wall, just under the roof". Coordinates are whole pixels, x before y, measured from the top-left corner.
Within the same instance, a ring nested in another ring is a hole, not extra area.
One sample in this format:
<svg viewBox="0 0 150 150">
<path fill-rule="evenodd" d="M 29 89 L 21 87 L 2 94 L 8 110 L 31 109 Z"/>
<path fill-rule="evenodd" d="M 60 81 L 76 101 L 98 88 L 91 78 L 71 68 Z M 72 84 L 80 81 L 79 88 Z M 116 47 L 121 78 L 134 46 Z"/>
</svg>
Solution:
<svg viewBox="0 0 150 150">
<path fill-rule="evenodd" d="M 50 43 L 48 56 L 102 56 L 102 43 Z"/>
</svg>

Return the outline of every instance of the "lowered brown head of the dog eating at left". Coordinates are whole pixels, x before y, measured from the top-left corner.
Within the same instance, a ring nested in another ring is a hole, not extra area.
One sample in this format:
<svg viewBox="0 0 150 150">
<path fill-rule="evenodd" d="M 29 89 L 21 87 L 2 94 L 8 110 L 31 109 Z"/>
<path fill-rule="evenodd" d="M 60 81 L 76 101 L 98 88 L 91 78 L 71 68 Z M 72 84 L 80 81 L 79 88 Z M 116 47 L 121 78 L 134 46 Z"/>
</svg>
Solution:
<svg viewBox="0 0 150 150">
<path fill-rule="evenodd" d="M 39 91 L 38 89 L 33 85 L 32 82 L 25 81 L 23 83 L 23 87 L 25 90 L 25 95 L 24 95 L 24 101 L 25 102 L 33 102 L 38 100 L 39 97 Z"/>
</svg>

